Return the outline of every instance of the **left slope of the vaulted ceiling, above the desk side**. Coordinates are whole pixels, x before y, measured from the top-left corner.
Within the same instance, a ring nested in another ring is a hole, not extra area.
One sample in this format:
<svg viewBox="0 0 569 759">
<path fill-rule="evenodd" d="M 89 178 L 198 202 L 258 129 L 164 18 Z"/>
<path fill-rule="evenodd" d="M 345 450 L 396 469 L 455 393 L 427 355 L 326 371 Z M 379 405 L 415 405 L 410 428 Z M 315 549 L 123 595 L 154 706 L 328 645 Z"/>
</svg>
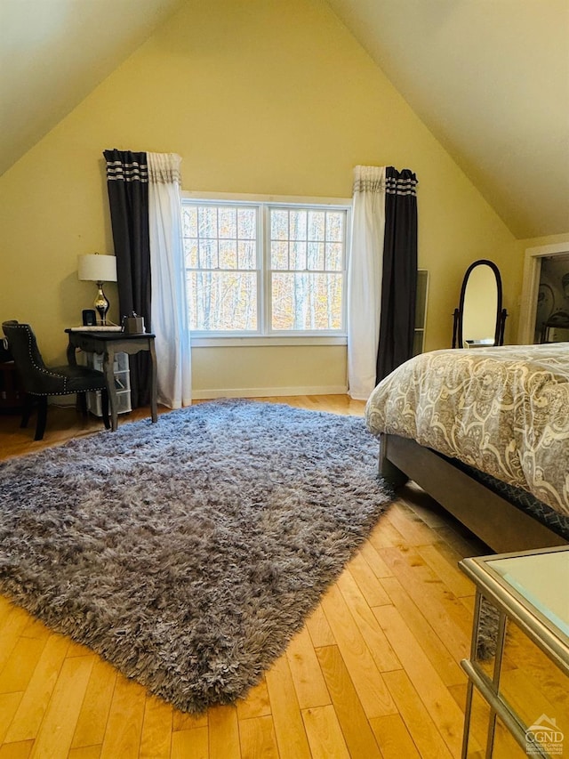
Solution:
<svg viewBox="0 0 569 759">
<path fill-rule="evenodd" d="M 0 174 L 185 0 L 0 0 Z"/>
</svg>

